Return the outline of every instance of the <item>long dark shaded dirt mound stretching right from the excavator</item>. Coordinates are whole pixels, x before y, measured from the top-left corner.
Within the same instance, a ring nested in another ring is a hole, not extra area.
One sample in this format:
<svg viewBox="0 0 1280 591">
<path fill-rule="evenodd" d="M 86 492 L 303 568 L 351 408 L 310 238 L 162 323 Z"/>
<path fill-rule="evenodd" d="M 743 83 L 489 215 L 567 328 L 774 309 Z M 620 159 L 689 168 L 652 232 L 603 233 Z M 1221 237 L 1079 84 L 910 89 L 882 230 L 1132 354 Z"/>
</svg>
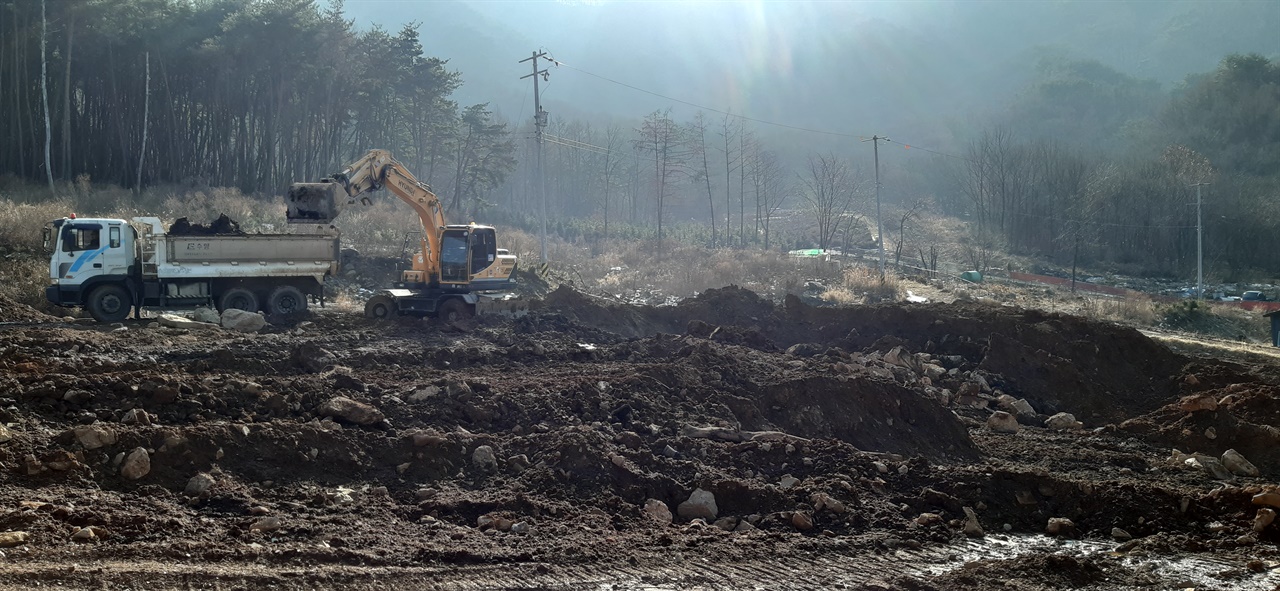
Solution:
<svg viewBox="0 0 1280 591">
<path fill-rule="evenodd" d="M 778 310 L 750 290 L 728 287 L 673 307 L 607 303 L 561 288 L 545 306 L 627 338 L 657 333 L 712 338 L 718 331 L 718 340 L 759 348 L 813 343 L 887 352 L 904 345 L 960 356 L 991 375 L 992 386 L 1027 398 L 1044 414 L 1070 412 L 1087 426 L 1160 408 L 1179 394 L 1175 376 L 1187 363 L 1129 327 L 978 303 L 827 308 L 788 297 Z"/>
</svg>

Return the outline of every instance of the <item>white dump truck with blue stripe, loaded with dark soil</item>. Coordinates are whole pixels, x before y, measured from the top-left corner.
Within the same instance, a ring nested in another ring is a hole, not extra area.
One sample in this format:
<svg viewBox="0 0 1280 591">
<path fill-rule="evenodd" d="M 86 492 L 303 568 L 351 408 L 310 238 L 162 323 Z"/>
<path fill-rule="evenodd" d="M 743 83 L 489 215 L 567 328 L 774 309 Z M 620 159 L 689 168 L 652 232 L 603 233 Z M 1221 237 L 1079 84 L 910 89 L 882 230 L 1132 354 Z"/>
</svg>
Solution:
<svg viewBox="0 0 1280 591">
<path fill-rule="evenodd" d="M 100 322 L 142 307 L 302 312 L 308 298 L 324 303 L 324 280 L 338 274 L 337 230 L 175 233 L 159 217 L 72 214 L 50 221 L 44 242 L 51 253 L 46 298 L 84 307 Z"/>
</svg>

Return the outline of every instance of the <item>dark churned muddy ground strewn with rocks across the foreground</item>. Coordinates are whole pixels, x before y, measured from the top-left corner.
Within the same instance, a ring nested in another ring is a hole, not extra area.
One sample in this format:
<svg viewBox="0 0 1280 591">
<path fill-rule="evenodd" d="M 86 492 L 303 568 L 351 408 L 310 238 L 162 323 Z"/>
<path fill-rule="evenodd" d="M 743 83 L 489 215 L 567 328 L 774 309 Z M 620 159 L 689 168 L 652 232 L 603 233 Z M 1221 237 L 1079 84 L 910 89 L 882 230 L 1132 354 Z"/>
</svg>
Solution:
<svg viewBox="0 0 1280 591">
<path fill-rule="evenodd" d="M 1280 585 L 1280 368 L 1076 317 L 0 322 L 0 588 Z"/>
</svg>

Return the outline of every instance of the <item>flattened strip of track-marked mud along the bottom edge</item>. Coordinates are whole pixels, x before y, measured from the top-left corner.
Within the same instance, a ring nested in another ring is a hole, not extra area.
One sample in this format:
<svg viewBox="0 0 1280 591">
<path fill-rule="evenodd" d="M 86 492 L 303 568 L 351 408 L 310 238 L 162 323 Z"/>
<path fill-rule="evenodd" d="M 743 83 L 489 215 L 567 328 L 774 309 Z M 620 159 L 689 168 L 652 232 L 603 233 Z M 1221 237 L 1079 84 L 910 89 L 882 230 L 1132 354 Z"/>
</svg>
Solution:
<svg viewBox="0 0 1280 591">
<path fill-rule="evenodd" d="M 1275 564 L 1265 573 L 1230 577 L 1243 564 L 1220 556 L 1119 556 L 1111 544 L 1068 541 L 1043 536 L 992 535 L 980 540 L 884 554 L 803 554 L 739 562 L 690 556 L 672 564 L 593 565 L 516 563 L 477 567 L 273 565 L 266 563 L 163 563 L 155 560 L 17 562 L 0 564 L 0 590 L 70 585 L 100 587 L 142 585 L 145 588 L 227 588 L 239 585 L 271 588 L 421 588 L 457 591 L 676 591 L 676 590 L 812 590 L 902 588 L 909 579 L 928 581 L 965 564 L 1015 560 L 1053 550 L 1074 556 L 1106 556 L 1117 568 L 1155 564 L 1166 585 L 1224 591 L 1272 588 L 1280 585 Z M 1148 567 L 1148 569 L 1151 569 Z M 1116 587 L 1125 588 L 1125 582 Z M 928 587 L 923 587 L 928 588 Z"/>
</svg>

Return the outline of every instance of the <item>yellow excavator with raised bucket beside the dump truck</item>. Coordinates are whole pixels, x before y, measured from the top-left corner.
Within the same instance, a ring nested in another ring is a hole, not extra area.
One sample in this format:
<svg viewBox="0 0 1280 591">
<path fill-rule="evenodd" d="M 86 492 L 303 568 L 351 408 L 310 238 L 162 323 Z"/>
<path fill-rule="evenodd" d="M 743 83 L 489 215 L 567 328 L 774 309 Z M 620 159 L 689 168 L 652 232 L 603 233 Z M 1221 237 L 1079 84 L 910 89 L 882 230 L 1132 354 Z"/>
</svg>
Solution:
<svg viewBox="0 0 1280 591">
<path fill-rule="evenodd" d="M 422 223 L 421 248 L 401 280 L 369 298 L 365 315 L 435 316 L 456 321 L 485 306 L 484 292 L 516 285 L 516 257 L 498 248 L 492 226 L 451 225 L 431 188 L 413 178 L 387 150 L 370 150 L 346 170 L 319 183 L 294 183 L 287 196 L 291 224 L 329 224 L 346 206 L 369 205 L 367 193 L 385 188 L 413 207 Z"/>
</svg>

